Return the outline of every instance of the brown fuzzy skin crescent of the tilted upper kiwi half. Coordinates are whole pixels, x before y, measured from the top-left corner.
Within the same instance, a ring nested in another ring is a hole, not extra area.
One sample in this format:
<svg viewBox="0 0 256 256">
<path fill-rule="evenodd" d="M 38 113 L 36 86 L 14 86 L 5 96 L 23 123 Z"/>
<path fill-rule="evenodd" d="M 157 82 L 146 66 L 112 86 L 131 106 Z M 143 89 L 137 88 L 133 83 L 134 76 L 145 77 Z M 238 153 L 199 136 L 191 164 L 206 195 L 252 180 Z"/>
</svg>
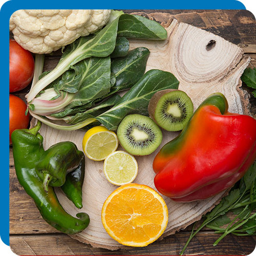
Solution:
<svg viewBox="0 0 256 256">
<path fill-rule="evenodd" d="M 156 92 L 153 97 L 150 99 L 149 101 L 149 104 L 148 104 L 148 113 L 149 113 L 149 116 L 154 120 L 154 122 L 160 126 L 161 124 L 159 124 L 157 121 L 156 121 L 156 118 L 155 118 L 155 112 L 156 112 L 156 107 L 157 107 L 157 103 L 158 101 L 163 97 L 163 95 L 165 95 L 166 93 L 169 93 L 169 92 L 174 92 L 174 91 L 181 91 L 181 90 L 177 90 L 177 89 L 166 89 L 166 90 L 162 90 L 162 91 L 158 91 Z M 183 92 L 183 91 L 182 91 Z M 183 92 L 185 93 L 185 92 Z M 193 106 L 193 103 L 191 102 L 192 106 Z M 166 127 L 162 127 L 164 130 L 167 130 L 167 131 L 178 131 L 178 130 L 171 130 L 171 129 L 166 129 Z"/>
</svg>

